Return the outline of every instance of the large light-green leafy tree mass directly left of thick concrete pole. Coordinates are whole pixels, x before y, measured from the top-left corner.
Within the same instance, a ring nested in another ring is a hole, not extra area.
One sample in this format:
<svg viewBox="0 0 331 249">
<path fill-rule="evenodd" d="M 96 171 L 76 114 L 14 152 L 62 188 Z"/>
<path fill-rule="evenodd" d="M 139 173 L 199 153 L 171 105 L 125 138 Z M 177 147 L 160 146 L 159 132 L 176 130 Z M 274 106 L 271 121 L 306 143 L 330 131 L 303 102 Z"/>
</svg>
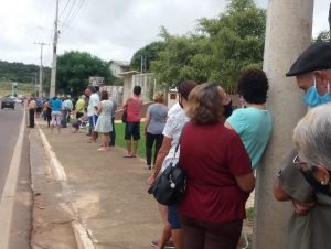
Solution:
<svg viewBox="0 0 331 249">
<path fill-rule="evenodd" d="M 217 19 L 199 20 L 197 32 L 160 36 L 164 51 L 152 62 L 156 78 L 177 86 L 182 79 L 233 86 L 246 68 L 261 68 L 266 11 L 253 0 L 229 0 Z"/>
</svg>

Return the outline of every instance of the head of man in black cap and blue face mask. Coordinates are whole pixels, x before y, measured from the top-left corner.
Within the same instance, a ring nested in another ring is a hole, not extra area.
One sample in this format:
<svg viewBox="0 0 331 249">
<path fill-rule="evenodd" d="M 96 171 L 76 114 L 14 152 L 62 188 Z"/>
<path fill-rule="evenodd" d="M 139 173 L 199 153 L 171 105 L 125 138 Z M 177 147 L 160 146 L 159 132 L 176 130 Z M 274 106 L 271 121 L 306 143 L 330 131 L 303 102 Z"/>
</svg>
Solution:
<svg viewBox="0 0 331 249">
<path fill-rule="evenodd" d="M 292 64 L 286 76 L 296 76 L 305 91 L 303 102 L 316 107 L 331 101 L 331 43 L 310 45 Z"/>
</svg>

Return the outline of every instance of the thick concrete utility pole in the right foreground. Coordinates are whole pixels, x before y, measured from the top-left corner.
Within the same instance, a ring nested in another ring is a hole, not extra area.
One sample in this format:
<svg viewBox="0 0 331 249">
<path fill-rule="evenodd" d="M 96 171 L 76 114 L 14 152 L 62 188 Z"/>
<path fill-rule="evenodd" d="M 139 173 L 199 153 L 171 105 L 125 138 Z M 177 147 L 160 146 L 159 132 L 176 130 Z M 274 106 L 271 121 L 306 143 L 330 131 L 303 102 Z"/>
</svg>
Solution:
<svg viewBox="0 0 331 249">
<path fill-rule="evenodd" d="M 300 8 L 298 8 L 300 7 Z M 257 170 L 254 209 L 254 249 L 284 249 L 290 202 L 274 199 L 273 184 L 281 159 L 293 148 L 292 129 L 307 111 L 295 77 L 285 77 L 291 64 L 311 43 L 313 0 L 269 0 L 264 69 L 269 78 L 268 109 L 274 119 L 270 142 Z"/>
</svg>

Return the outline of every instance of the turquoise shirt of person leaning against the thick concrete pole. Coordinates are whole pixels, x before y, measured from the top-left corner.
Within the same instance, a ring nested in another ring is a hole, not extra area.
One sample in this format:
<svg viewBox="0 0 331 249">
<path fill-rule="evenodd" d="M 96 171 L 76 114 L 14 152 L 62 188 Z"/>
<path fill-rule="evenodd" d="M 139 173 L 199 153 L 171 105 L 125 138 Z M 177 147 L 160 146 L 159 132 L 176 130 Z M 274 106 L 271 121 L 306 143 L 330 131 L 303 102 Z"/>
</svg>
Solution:
<svg viewBox="0 0 331 249">
<path fill-rule="evenodd" d="M 273 120 L 268 110 L 236 109 L 226 120 L 241 137 L 255 170 L 269 141 Z"/>
</svg>

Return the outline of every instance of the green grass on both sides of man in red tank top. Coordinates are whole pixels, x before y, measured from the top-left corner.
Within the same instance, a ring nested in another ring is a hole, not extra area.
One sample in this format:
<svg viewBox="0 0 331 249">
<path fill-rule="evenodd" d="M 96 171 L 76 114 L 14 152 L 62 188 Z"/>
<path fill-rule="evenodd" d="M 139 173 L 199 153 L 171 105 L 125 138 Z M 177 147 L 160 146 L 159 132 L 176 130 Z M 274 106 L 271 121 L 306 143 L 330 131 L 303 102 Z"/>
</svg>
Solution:
<svg viewBox="0 0 331 249">
<path fill-rule="evenodd" d="M 125 136 L 125 123 L 115 123 L 116 130 L 116 145 L 127 149 Z M 145 136 L 143 136 L 143 122 L 140 122 L 140 140 L 138 142 L 137 155 L 139 158 L 146 159 L 146 148 L 145 148 Z"/>
</svg>

